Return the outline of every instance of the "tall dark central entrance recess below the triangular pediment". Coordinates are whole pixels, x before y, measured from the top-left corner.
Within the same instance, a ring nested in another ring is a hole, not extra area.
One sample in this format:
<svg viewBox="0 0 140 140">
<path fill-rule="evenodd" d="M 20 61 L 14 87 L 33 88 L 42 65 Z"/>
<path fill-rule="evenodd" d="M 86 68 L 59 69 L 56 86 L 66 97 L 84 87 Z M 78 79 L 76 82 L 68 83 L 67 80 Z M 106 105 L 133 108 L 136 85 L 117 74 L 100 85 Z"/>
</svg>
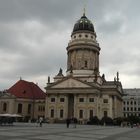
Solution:
<svg viewBox="0 0 140 140">
<path fill-rule="evenodd" d="M 68 95 L 68 118 L 74 117 L 74 95 Z"/>
</svg>

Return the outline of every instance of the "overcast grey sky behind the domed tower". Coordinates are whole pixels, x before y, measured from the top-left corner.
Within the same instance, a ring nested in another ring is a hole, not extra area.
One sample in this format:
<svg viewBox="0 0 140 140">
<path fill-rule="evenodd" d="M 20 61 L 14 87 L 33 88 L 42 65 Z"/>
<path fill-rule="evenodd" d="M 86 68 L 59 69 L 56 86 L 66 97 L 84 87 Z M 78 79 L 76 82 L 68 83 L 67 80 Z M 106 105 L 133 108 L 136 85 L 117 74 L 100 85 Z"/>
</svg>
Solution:
<svg viewBox="0 0 140 140">
<path fill-rule="evenodd" d="M 0 0 L 0 90 L 20 77 L 43 88 L 59 68 L 75 22 L 93 22 L 100 44 L 100 73 L 124 88 L 140 88 L 139 0 Z"/>
</svg>

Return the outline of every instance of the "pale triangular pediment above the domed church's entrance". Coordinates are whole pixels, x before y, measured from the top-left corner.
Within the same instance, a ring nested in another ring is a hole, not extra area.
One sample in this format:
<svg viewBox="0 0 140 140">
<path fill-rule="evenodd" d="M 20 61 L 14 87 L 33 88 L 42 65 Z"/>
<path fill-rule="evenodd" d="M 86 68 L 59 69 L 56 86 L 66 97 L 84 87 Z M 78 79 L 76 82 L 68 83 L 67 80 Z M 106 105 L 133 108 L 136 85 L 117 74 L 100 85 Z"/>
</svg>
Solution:
<svg viewBox="0 0 140 140">
<path fill-rule="evenodd" d="M 66 80 L 59 81 L 51 88 L 89 88 L 89 87 L 91 86 L 80 80 L 68 78 Z"/>
</svg>

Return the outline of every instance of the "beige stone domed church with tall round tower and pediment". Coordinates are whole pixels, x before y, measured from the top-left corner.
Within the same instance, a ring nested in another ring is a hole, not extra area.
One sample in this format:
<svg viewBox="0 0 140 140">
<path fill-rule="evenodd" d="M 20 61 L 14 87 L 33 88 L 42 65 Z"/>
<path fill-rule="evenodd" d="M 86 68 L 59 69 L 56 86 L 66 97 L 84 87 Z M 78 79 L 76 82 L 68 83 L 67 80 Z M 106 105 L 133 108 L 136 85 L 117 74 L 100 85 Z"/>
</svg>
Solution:
<svg viewBox="0 0 140 140">
<path fill-rule="evenodd" d="M 90 117 L 112 119 L 122 116 L 122 85 L 119 73 L 113 81 L 100 75 L 100 46 L 93 23 L 85 13 L 75 23 L 67 46 L 67 72 L 62 69 L 46 86 L 45 117 L 51 122 L 77 118 L 87 123 Z"/>
</svg>

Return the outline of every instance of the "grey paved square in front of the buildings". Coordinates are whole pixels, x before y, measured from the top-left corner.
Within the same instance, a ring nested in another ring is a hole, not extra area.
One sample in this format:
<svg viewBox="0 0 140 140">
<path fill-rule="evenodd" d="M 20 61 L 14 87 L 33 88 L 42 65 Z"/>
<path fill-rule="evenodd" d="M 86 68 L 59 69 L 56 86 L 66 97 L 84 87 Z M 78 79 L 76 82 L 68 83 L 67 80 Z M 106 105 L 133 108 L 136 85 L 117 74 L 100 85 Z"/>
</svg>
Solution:
<svg viewBox="0 0 140 140">
<path fill-rule="evenodd" d="M 0 140 L 140 140 L 140 128 L 71 124 L 15 123 L 0 126 Z"/>
</svg>

